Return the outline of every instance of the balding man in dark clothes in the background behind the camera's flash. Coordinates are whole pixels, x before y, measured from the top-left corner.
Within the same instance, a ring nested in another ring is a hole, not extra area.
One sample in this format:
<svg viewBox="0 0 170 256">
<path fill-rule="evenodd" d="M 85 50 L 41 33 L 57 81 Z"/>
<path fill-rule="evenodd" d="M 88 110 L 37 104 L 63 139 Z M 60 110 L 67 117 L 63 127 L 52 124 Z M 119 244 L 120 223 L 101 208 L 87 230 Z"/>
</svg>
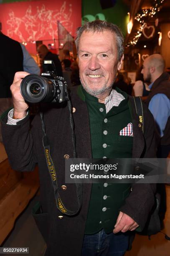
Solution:
<svg viewBox="0 0 170 256">
<path fill-rule="evenodd" d="M 49 60 L 51 59 L 56 67 L 56 72 L 59 77 L 63 76 L 62 67 L 60 60 L 58 59 L 57 54 L 53 54 L 51 51 L 48 50 L 47 46 L 45 44 L 41 44 L 38 46 L 37 49 L 39 57 L 43 60 Z"/>
</svg>

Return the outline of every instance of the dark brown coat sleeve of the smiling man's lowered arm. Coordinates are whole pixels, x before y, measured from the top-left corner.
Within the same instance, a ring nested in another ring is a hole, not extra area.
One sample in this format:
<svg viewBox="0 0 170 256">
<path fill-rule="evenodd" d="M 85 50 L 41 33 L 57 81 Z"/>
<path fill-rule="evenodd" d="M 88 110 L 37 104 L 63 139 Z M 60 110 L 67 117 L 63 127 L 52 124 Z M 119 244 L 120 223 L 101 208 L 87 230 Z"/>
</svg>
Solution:
<svg viewBox="0 0 170 256">
<path fill-rule="evenodd" d="M 155 143 L 155 122 L 150 110 L 143 104 L 144 110 L 144 148 L 141 156 L 142 158 L 156 157 L 156 143 Z M 134 110 L 134 118 L 138 118 Z M 141 131 L 138 131 L 139 133 Z M 140 145 L 138 145 L 140 147 Z M 136 148 L 137 150 L 137 148 Z M 147 222 L 148 216 L 155 203 L 156 184 L 132 184 L 132 192 L 126 199 L 125 204 L 120 208 L 120 211 L 129 215 L 135 220 L 140 229 L 143 230 Z"/>
</svg>

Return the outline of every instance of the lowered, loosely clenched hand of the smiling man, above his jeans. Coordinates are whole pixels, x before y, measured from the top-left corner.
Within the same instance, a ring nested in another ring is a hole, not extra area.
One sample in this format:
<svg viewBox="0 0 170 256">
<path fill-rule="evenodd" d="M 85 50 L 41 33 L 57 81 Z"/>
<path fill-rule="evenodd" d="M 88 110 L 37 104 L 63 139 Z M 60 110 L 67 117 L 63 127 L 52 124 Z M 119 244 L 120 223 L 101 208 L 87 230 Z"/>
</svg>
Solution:
<svg viewBox="0 0 170 256">
<path fill-rule="evenodd" d="M 139 225 L 130 218 L 127 214 L 123 212 L 119 212 L 119 216 L 117 217 L 117 222 L 114 226 L 113 233 L 126 232 L 128 230 L 133 231 L 135 230 Z"/>
</svg>

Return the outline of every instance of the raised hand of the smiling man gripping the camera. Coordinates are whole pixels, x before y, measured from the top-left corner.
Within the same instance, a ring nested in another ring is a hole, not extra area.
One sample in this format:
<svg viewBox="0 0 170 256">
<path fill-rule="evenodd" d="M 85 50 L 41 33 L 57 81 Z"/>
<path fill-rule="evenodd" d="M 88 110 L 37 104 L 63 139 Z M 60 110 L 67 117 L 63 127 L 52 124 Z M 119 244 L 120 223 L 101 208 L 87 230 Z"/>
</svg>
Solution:
<svg viewBox="0 0 170 256">
<path fill-rule="evenodd" d="M 29 73 L 27 72 L 16 72 L 13 80 L 13 84 L 10 86 L 10 90 L 13 96 L 14 105 L 14 119 L 24 118 L 26 116 L 26 111 L 28 109 L 28 104 L 23 99 L 20 93 L 20 83 L 24 77 Z"/>
</svg>

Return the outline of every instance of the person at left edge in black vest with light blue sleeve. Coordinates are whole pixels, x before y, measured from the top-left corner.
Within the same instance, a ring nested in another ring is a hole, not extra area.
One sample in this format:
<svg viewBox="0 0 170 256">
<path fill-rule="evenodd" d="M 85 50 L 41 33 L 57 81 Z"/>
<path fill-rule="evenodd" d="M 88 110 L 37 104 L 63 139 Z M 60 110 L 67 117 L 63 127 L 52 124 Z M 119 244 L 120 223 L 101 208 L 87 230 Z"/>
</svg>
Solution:
<svg viewBox="0 0 170 256">
<path fill-rule="evenodd" d="M 40 69 L 25 46 L 5 36 L 0 23 L 0 98 L 11 97 L 10 85 L 18 71 L 39 74 Z"/>
</svg>

